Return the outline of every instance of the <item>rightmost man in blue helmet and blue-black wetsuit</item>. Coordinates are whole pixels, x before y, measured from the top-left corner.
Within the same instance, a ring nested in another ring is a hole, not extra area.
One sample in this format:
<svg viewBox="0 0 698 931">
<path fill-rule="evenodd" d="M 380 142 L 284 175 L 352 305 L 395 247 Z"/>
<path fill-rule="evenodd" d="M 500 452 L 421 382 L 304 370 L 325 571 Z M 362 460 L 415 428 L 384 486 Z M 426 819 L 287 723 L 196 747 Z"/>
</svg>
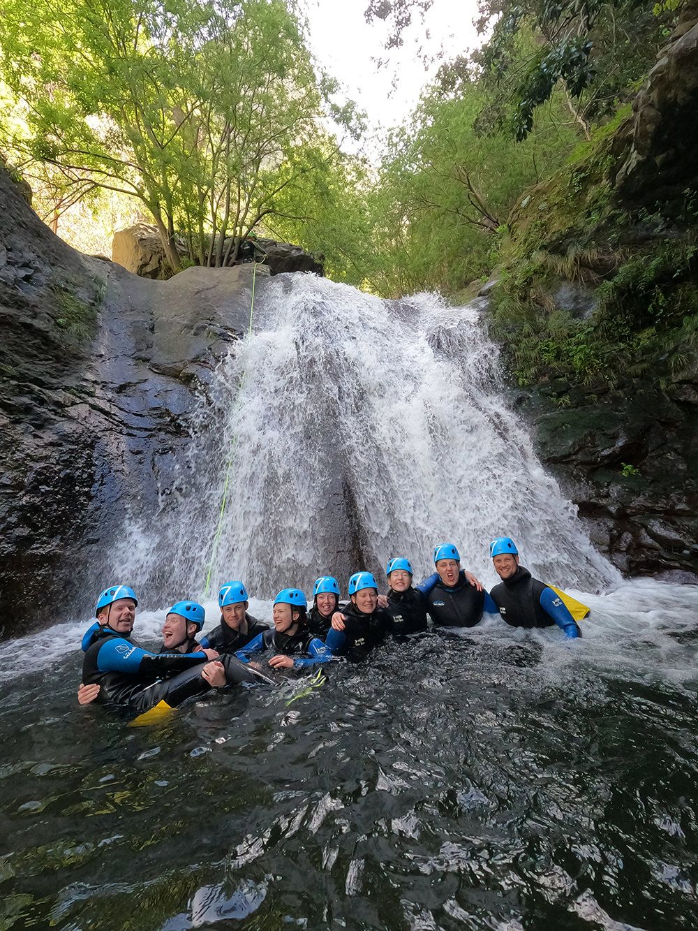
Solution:
<svg viewBox="0 0 698 931">
<path fill-rule="evenodd" d="M 510 627 L 557 627 L 575 640 L 582 632 L 556 591 L 534 579 L 519 564 L 517 546 L 511 537 L 501 536 L 490 543 L 494 571 L 502 579 L 490 595 Z"/>
</svg>

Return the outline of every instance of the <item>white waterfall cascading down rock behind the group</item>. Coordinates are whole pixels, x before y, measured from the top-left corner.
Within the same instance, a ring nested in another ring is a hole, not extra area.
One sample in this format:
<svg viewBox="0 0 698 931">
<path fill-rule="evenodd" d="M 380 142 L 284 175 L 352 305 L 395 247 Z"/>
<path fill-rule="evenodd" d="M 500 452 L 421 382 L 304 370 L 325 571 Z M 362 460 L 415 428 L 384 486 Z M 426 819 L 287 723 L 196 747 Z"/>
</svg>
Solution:
<svg viewBox="0 0 698 931">
<path fill-rule="evenodd" d="M 213 587 L 242 578 L 270 597 L 399 554 L 428 573 L 442 540 L 486 573 L 504 533 L 544 578 L 618 582 L 503 396 L 482 309 L 386 302 L 309 275 L 267 282 L 253 334 L 202 400 L 180 493 L 146 533 L 170 589 L 202 591 L 231 454 Z M 139 549 L 130 539 L 119 566 L 134 584 L 153 573 Z"/>
</svg>

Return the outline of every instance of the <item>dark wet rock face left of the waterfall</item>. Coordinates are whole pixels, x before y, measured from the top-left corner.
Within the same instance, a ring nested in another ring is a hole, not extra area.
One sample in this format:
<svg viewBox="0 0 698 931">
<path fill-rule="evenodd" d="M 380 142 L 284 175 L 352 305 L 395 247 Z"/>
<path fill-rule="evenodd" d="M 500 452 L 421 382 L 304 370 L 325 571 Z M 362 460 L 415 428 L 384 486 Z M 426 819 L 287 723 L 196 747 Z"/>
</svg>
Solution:
<svg viewBox="0 0 698 931">
<path fill-rule="evenodd" d="M 263 270 L 258 270 L 263 276 Z M 128 508 L 154 513 L 217 358 L 248 324 L 251 266 L 148 281 L 53 236 L 0 169 L 4 629 L 83 609 Z"/>
</svg>

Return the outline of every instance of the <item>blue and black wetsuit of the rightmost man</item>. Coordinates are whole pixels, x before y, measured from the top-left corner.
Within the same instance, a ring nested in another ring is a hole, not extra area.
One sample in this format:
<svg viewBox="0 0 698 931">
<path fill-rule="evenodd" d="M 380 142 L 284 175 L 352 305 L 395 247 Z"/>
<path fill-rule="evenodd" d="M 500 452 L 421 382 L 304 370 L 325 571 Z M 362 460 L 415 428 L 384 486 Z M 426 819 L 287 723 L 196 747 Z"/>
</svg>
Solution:
<svg viewBox="0 0 698 931">
<path fill-rule="evenodd" d="M 582 636 L 565 602 L 528 569 L 519 566 L 511 578 L 504 579 L 490 592 L 499 613 L 510 627 L 552 627 L 557 624 L 565 637 Z"/>
</svg>

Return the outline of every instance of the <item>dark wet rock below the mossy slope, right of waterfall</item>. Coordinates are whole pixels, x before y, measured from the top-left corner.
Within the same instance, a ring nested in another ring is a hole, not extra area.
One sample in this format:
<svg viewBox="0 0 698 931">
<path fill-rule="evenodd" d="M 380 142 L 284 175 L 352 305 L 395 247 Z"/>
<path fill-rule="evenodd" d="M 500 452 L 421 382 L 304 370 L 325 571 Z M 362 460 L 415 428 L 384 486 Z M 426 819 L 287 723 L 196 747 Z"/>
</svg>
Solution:
<svg viewBox="0 0 698 931">
<path fill-rule="evenodd" d="M 624 573 L 698 573 L 698 384 L 537 389 L 521 404 L 537 452 Z"/>
</svg>

